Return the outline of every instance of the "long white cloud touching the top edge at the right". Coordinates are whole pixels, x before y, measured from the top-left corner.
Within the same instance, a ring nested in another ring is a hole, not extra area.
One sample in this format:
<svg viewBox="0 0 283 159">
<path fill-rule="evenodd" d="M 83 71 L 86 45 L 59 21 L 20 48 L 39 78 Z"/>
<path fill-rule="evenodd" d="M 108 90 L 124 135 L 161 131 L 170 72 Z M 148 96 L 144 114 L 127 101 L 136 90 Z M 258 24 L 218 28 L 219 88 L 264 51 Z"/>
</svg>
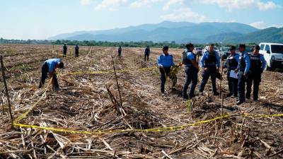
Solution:
<svg viewBox="0 0 283 159">
<path fill-rule="evenodd" d="M 228 11 L 235 9 L 258 7 L 260 11 L 266 11 L 274 8 L 280 8 L 273 1 L 262 2 L 260 0 L 202 0 L 203 4 L 216 4 L 221 8 L 227 8 Z"/>
</svg>

